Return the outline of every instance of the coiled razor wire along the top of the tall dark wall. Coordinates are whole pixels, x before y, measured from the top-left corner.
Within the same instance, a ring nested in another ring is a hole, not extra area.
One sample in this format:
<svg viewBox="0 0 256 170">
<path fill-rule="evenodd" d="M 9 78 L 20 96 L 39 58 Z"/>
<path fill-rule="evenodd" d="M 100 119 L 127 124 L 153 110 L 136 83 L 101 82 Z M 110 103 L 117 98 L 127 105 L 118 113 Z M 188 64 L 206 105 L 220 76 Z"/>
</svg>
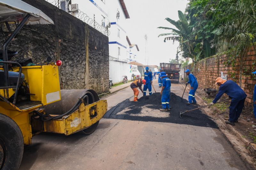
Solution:
<svg viewBox="0 0 256 170">
<path fill-rule="evenodd" d="M 47 2 L 53 4 L 54 6 L 60 8 L 60 1 L 59 0 L 53 0 L 52 2 L 50 0 L 46 0 Z M 72 9 L 69 9 L 68 11 L 72 11 Z M 90 18 L 86 13 L 84 13 L 81 10 L 77 10 L 76 12 L 72 12 L 76 18 L 80 19 L 81 21 L 85 22 L 86 24 L 92 26 L 94 29 L 98 30 L 102 34 L 109 36 L 110 31 L 108 30 L 108 26 L 105 27 L 102 24 L 99 24 L 95 21 L 95 19 Z"/>
</svg>

